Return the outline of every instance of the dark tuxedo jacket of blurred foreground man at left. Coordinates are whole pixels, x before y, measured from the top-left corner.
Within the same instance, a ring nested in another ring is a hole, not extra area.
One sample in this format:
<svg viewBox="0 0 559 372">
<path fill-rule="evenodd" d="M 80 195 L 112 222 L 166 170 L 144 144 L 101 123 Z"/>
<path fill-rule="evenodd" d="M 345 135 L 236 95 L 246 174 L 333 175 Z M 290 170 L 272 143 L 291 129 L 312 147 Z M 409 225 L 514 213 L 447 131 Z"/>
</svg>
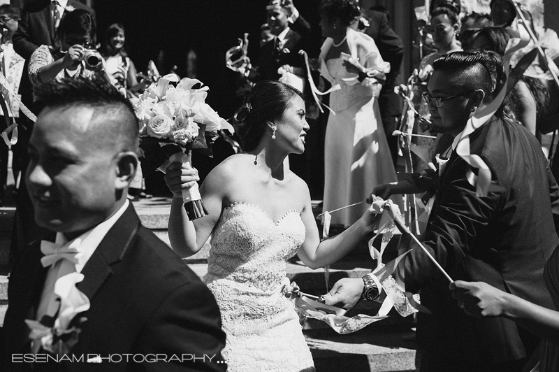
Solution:
<svg viewBox="0 0 559 372">
<path fill-rule="evenodd" d="M 177 363 L 10 363 L 12 354 L 30 352 L 25 319 L 35 319 L 48 269 L 41 266 L 40 241 L 29 245 L 10 274 L 4 320 L 3 371 L 225 371 L 225 343 L 219 308 L 210 290 L 129 206 L 85 265 L 77 287 L 91 301 L 78 343 L 85 355 L 177 355 Z M 74 322 L 73 320 L 73 322 Z M 72 327 L 73 324 L 70 324 Z M 186 355 L 186 357 L 183 357 Z M 193 362 L 189 356 L 212 357 Z M 114 359 L 114 358 L 113 358 Z M 141 357 L 137 357 L 141 360 Z"/>
</svg>

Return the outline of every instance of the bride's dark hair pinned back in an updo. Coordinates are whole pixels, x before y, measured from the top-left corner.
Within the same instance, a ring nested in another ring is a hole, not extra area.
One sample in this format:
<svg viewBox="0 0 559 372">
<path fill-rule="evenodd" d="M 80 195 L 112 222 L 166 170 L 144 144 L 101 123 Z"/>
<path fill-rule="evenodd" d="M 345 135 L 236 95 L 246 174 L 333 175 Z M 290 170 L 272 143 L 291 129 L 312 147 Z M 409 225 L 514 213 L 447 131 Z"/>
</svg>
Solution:
<svg viewBox="0 0 559 372">
<path fill-rule="evenodd" d="M 243 151 L 256 148 L 268 129 L 268 123 L 281 119 L 291 105 L 291 99 L 303 94 L 279 81 L 263 80 L 254 85 L 245 105 L 233 117 L 233 126 Z"/>
</svg>

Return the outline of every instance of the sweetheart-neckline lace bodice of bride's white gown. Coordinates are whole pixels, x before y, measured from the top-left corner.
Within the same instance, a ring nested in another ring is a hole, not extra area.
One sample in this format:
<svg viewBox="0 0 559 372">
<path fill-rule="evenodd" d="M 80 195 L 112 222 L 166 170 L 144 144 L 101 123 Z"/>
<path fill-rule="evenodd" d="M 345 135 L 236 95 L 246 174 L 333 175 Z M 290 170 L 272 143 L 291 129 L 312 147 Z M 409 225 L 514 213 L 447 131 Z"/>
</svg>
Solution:
<svg viewBox="0 0 559 372">
<path fill-rule="evenodd" d="M 273 289 L 285 278 L 286 261 L 305 240 L 299 210 L 274 222 L 258 206 L 234 203 L 217 224 L 208 258 L 208 273 L 249 287 Z"/>
</svg>

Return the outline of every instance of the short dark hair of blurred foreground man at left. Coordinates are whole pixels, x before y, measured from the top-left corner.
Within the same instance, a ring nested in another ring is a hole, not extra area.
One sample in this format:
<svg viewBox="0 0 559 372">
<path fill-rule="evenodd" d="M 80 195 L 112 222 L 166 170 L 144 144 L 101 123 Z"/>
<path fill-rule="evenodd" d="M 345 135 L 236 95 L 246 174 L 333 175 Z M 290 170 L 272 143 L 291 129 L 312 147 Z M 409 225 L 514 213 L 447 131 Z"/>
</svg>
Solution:
<svg viewBox="0 0 559 372">
<path fill-rule="evenodd" d="M 138 119 L 134 109 L 120 92 L 103 78 L 66 78 L 34 86 L 39 111 L 45 108 L 69 110 L 75 107 L 94 109 L 94 119 L 112 128 L 112 142 L 119 148 L 136 150 Z M 106 118 L 106 120 L 102 120 Z M 109 125 L 108 124 L 108 125 Z M 110 144 L 108 144 L 110 145 Z"/>
</svg>

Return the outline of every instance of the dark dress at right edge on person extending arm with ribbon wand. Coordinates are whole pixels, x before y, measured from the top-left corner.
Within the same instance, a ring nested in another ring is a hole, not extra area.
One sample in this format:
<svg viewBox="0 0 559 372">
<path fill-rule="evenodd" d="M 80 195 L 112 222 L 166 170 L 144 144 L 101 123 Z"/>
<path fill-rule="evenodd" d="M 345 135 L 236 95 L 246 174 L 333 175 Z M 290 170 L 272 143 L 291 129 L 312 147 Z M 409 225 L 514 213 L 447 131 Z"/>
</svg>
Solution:
<svg viewBox="0 0 559 372">
<path fill-rule="evenodd" d="M 555 310 L 559 311 L 559 248 L 551 254 L 544 268 L 544 280 L 553 299 Z M 539 372 L 559 371 L 559 345 L 551 341 L 542 341 L 539 359 Z"/>
</svg>

